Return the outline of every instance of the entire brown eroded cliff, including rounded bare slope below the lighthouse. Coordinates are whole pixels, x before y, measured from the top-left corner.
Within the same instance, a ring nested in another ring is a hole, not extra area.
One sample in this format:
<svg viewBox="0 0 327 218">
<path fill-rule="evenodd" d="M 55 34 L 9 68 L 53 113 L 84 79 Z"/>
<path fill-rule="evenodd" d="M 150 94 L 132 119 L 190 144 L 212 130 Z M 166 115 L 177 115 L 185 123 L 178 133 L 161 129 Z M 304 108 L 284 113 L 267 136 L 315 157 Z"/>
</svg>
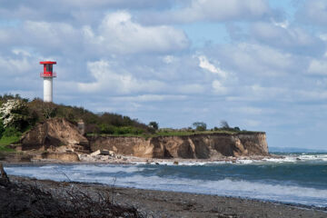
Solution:
<svg viewBox="0 0 327 218">
<path fill-rule="evenodd" d="M 115 154 L 144 158 L 185 159 L 269 155 L 264 133 L 190 133 L 188 135 L 153 136 L 149 138 L 102 135 L 85 137 L 76 125 L 63 118 L 54 118 L 35 125 L 22 137 L 21 150 L 52 153 L 74 152 L 78 154 L 88 154 L 96 150 L 110 150 L 114 151 Z"/>
</svg>

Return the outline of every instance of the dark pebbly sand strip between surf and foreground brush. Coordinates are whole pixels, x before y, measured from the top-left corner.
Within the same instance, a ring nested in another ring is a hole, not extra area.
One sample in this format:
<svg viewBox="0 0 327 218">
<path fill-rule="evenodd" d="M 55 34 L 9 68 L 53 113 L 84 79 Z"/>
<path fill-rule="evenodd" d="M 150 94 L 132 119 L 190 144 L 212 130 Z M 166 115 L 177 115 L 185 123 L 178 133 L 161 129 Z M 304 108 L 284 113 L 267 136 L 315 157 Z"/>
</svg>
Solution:
<svg viewBox="0 0 327 218">
<path fill-rule="evenodd" d="M 10 176 L 10 179 L 14 183 L 32 184 L 51 190 L 59 199 L 65 190 L 82 191 L 94 198 L 98 193 L 106 193 L 114 203 L 132 205 L 144 217 L 327 217 L 326 212 L 317 208 L 233 197 L 120 188 L 94 183 L 57 183 L 18 176 Z"/>
</svg>

